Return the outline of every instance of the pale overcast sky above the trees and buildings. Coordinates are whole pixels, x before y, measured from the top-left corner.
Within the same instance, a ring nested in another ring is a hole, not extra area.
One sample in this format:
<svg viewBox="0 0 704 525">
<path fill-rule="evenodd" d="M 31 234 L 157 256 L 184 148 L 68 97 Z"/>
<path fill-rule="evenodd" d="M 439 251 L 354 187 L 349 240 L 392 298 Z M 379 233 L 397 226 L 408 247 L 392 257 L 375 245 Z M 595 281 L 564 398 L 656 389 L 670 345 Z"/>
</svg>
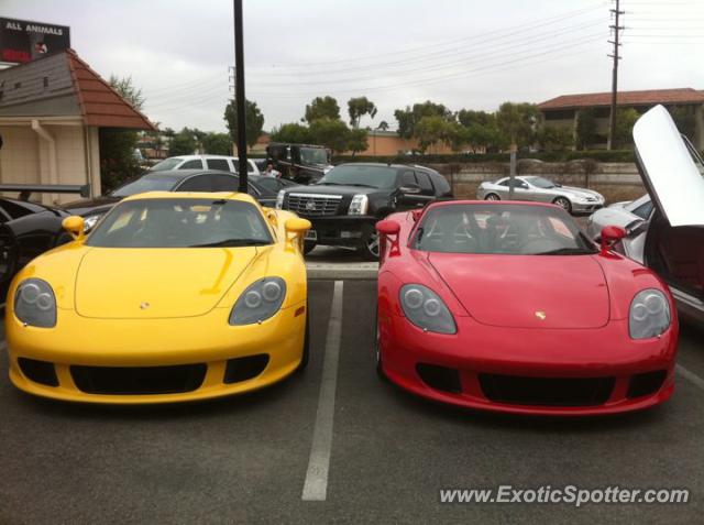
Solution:
<svg viewBox="0 0 704 525">
<path fill-rule="evenodd" d="M 244 0 L 246 96 L 264 129 L 318 95 L 394 110 L 427 99 L 495 110 L 607 91 L 610 1 Z M 619 89 L 704 89 L 704 0 L 623 0 Z M 234 62 L 229 0 L 2 0 L 0 15 L 69 25 L 103 77 L 132 76 L 162 127 L 224 131 Z"/>
</svg>

